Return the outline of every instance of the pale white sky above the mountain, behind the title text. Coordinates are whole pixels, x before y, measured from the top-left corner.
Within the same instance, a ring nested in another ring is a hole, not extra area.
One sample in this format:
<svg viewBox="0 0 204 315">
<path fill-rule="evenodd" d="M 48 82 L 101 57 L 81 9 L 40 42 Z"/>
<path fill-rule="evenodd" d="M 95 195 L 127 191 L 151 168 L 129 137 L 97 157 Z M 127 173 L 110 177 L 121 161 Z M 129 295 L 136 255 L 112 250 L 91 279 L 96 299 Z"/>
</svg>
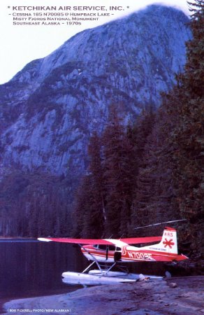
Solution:
<svg viewBox="0 0 204 315">
<path fill-rule="evenodd" d="M 45 57 L 57 49 L 68 38 L 83 29 L 89 29 L 105 22 L 121 18 L 145 8 L 152 3 L 174 6 L 189 15 L 186 0 L 1 0 L 0 1 L 0 84 L 13 78 L 31 60 Z M 14 6 L 14 8 L 13 8 Z M 29 6 L 29 9 L 26 8 Z M 36 10 L 32 7 L 57 7 L 56 10 Z M 77 8 L 73 8 L 73 7 Z M 86 8 L 83 9 L 82 6 Z M 93 7 L 96 8 L 93 8 Z M 110 6 L 117 10 L 110 10 Z M 91 8 L 92 7 L 92 8 Z M 99 9 L 103 7 L 103 9 Z M 23 14 L 30 13 L 29 16 Z M 49 15 L 45 15 L 48 13 Z M 96 15 L 89 20 L 73 21 L 71 13 L 92 13 Z M 98 15 L 99 13 L 99 15 Z M 61 15 L 59 15 L 61 14 Z M 41 25 L 42 22 L 57 22 L 49 18 L 69 18 L 71 21 L 61 21 L 64 25 Z M 17 20 L 17 19 L 27 20 Z M 45 18 L 47 20 L 37 20 Z M 33 19 L 33 20 L 31 20 Z M 21 25 L 20 23 L 39 23 L 39 25 Z M 16 23 L 16 25 L 13 25 Z M 17 24 L 19 23 L 19 24 Z M 68 25 L 66 25 L 68 23 Z M 69 23 L 72 23 L 71 25 Z M 73 23 L 78 23 L 73 25 Z"/>
</svg>

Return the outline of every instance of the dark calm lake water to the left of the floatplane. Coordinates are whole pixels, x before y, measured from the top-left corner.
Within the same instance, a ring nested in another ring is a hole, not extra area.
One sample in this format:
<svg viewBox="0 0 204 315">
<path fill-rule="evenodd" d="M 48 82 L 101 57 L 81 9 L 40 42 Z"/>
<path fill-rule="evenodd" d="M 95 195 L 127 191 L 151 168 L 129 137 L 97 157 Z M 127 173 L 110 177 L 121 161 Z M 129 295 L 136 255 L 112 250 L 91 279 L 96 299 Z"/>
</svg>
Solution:
<svg viewBox="0 0 204 315">
<path fill-rule="evenodd" d="M 0 240 L 0 313 L 3 302 L 71 292 L 81 286 L 61 281 L 65 271 L 87 266 L 79 246 L 36 240 Z"/>
</svg>

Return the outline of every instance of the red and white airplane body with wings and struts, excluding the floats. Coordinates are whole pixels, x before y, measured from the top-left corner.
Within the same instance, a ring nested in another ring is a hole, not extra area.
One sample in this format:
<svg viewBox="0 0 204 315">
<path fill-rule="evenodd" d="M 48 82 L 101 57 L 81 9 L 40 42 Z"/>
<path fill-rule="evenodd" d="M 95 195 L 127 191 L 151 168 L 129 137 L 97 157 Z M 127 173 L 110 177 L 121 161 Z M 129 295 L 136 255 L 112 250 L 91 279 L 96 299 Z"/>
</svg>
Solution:
<svg viewBox="0 0 204 315">
<path fill-rule="evenodd" d="M 126 239 L 38 238 L 38 240 L 79 244 L 83 255 L 88 260 L 93 260 L 89 267 L 96 262 L 100 270 L 101 262 L 112 263 L 108 269 L 110 270 L 120 262 L 176 262 L 187 259 L 187 256 L 177 253 L 177 232 L 173 228 L 165 228 L 162 237 L 135 237 Z M 147 243 L 154 244 L 141 247 L 130 245 Z"/>
</svg>

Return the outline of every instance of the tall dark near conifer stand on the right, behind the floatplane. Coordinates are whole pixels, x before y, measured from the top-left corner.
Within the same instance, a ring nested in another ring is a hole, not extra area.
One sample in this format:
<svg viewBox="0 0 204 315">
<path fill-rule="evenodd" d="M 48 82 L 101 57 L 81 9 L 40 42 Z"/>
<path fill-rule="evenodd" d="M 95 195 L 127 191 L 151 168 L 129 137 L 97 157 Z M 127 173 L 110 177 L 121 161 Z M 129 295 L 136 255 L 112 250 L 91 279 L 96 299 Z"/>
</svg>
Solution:
<svg viewBox="0 0 204 315">
<path fill-rule="evenodd" d="M 89 142 L 89 169 L 75 198 L 75 237 L 136 235 L 135 228 L 168 220 L 177 225 L 184 251 L 201 258 L 203 205 L 203 1 L 191 3 L 193 39 L 176 84 L 125 124 L 112 104 L 108 123 Z M 155 232 L 154 228 L 154 232 Z M 145 235 L 151 234 L 145 230 Z M 141 230 L 140 230 L 141 233 Z"/>
</svg>

